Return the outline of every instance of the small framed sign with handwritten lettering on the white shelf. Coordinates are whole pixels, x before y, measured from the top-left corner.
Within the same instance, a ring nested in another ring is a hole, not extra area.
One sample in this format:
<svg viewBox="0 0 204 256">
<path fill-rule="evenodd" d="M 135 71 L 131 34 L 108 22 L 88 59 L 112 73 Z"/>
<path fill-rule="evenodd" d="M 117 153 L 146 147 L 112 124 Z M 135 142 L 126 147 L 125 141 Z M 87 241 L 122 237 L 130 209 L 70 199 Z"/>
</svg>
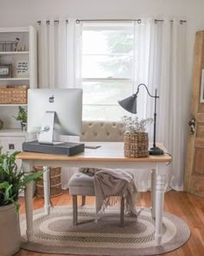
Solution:
<svg viewBox="0 0 204 256">
<path fill-rule="evenodd" d="M 29 61 L 16 60 L 14 75 L 16 78 L 29 78 Z"/>
</svg>

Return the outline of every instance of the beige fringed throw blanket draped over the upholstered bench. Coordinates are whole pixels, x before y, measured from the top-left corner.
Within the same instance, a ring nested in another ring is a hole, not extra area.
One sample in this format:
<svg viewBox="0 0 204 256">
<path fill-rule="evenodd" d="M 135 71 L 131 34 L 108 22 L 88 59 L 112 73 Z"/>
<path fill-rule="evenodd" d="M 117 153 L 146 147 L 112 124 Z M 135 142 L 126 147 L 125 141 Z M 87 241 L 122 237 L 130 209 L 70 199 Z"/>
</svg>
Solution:
<svg viewBox="0 0 204 256">
<path fill-rule="evenodd" d="M 116 196 L 124 196 L 125 211 L 137 216 L 137 186 L 134 176 L 124 170 L 98 170 L 93 178 L 96 195 L 96 214 L 117 202 Z"/>
</svg>

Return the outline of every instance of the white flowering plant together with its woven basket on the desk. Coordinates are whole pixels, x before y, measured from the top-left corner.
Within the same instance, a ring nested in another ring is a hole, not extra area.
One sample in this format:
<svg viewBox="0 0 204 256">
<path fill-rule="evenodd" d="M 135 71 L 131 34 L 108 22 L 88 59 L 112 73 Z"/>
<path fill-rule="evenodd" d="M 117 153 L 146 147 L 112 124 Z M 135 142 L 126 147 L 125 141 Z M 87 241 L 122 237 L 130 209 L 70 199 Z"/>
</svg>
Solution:
<svg viewBox="0 0 204 256">
<path fill-rule="evenodd" d="M 145 125 L 152 123 L 152 118 L 138 120 L 137 116 L 122 118 L 124 123 L 124 157 L 148 157 L 149 138 Z"/>
</svg>

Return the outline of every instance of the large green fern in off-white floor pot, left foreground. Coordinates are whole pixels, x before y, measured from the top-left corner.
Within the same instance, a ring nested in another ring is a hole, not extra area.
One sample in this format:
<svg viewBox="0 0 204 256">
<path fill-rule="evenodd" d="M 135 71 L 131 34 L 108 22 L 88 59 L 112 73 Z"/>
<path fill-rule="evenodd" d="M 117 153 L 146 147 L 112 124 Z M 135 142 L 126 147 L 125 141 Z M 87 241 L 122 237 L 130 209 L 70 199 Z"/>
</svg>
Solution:
<svg viewBox="0 0 204 256">
<path fill-rule="evenodd" d="M 2 154 L 0 148 L 0 255 L 13 255 L 21 246 L 18 196 L 41 171 L 26 175 L 17 170 L 16 154 Z"/>
</svg>

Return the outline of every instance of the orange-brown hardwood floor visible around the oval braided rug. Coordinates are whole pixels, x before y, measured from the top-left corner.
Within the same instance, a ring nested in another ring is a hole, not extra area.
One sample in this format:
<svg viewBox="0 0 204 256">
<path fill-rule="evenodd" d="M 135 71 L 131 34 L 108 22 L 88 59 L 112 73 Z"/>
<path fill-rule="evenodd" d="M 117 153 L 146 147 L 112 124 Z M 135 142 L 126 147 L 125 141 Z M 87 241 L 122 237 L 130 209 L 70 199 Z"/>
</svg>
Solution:
<svg viewBox="0 0 204 256">
<path fill-rule="evenodd" d="M 24 201 L 21 213 L 24 213 Z M 67 193 L 52 198 L 52 202 L 57 205 L 72 204 L 72 198 Z M 93 204 L 93 197 L 87 197 L 87 204 Z M 140 193 L 137 206 L 150 207 L 150 192 Z M 42 208 L 43 200 L 39 197 L 34 199 L 34 208 Z M 191 229 L 191 237 L 181 248 L 164 256 L 203 256 L 204 255 L 204 199 L 184 192 L 169 191 L 165 194 L 164 210 L 175 214 L 188 224 Z M 56 256 L 62 254 L 35 253 L 21 250 L 16 256 Z M 127 255 L 124 255 L 127 256 Z"/>
</svg>

